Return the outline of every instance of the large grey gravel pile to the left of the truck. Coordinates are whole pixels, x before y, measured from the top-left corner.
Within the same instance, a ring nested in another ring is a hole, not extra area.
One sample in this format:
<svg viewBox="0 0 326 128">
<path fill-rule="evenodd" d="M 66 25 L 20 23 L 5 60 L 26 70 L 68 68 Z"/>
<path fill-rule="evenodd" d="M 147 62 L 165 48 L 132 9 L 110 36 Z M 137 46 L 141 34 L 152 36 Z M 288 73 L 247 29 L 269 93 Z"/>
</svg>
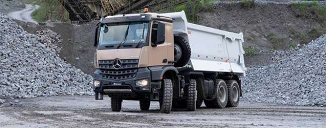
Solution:
<svg viewBox="0 0 326 128">
<path fill-rule="evenodd" d="M 56 54 L 58 40 L 52 31 L 27 33 L 0 13 L 0 98 L 92 95 L 92 76 Z"/>
</svg>

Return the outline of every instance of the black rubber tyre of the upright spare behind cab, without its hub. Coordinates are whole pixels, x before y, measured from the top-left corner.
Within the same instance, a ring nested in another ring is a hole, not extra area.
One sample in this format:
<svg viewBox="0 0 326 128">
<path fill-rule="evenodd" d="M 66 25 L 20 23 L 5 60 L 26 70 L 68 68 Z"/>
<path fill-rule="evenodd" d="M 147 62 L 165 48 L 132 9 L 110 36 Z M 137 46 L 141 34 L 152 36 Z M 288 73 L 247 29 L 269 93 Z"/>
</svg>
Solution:
<svg viewBox="0 0 326 128">
<path fill-rule="evenodd" d="M 174 36 L 174 42 L 178 44 L 182 50 L 182 56 L 177 62 L 175 62 L 175 66 L 185 66 L 189 62 L 191 56 L 190 44 L 186 39 L 181 36 Z"/>
</svg>

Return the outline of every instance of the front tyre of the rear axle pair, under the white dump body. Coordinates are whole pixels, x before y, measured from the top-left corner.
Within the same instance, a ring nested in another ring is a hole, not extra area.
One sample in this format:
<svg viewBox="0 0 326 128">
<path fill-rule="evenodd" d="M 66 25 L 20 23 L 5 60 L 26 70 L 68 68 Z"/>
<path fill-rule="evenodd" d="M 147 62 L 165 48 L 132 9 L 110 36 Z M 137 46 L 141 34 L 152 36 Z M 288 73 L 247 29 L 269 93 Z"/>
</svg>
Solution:
<svg viewBox="0 0 326 128">
<path fill-rule="evenodd" d="M 212 100 L 204 100 L 205 105 L 208 108 L 224 108 L 228 102 L 227 84 L 223 79 L 216 79 L 215 84 L 216 84 L 216 97 Z M 220 96 L 220 93 L 222 92 L 222 90 L 220 89 L 223 89 L 224 95 L 222 95 L 222 97 Z"/>
</svg>

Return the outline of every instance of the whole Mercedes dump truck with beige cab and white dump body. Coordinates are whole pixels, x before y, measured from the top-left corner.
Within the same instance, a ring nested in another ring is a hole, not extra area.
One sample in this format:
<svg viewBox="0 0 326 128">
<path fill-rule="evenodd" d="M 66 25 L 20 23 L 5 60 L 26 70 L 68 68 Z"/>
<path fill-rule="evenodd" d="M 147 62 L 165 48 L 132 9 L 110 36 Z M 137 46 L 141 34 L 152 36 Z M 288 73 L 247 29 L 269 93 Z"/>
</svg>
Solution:
<svg viewBox="0 0 326 128">
<path fill-rule="evenodd" d="M 97 24 L 95 99 L 139 100 L 148 110 L 236 107 L 245 76 L 243 33 L 190 23 L 184 11 L 120 14 Z"/>
</svg>

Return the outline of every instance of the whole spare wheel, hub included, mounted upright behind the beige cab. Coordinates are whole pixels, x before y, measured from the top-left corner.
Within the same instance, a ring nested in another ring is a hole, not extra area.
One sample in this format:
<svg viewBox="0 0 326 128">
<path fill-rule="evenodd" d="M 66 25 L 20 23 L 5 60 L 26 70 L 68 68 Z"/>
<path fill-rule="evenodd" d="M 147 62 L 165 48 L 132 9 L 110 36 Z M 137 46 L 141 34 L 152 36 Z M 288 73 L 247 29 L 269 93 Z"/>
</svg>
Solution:
<svg viewBox="0 0 326 128">
<path fill-rule="evenodd" d="M 185 66 L 190 59 L 191 49 L 189 42 L 181 36 L 174 36 L 175 42 L 175 66 Z"/>
</svg>

